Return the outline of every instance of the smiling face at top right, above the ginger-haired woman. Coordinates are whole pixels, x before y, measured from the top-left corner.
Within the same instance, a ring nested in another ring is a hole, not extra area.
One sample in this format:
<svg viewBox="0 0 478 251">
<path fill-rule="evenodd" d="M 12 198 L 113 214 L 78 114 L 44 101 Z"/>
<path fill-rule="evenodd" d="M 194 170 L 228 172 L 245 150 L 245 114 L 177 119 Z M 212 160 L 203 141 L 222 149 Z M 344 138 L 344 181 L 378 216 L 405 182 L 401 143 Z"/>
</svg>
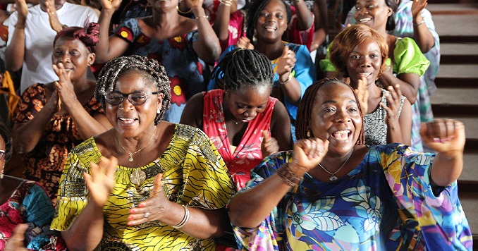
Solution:
<svg viewBox="0 0 478 251">
<path fill-rule="evenodd" d="M 388 16 L 393 13 L 385 0 L 357 0 L 355 9 L 353 17 L 357 23 L 375 30 L 385 30 Z"/>
</svg>

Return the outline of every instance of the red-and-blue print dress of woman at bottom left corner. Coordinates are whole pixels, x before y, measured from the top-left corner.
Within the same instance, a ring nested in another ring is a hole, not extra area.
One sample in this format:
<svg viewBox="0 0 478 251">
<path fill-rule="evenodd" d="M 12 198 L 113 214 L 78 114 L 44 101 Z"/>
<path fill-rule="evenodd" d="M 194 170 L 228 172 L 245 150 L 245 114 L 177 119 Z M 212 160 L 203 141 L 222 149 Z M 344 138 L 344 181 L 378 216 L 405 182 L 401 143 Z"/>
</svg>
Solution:
<svg viewBox="0 0 478 251">
<path fill-rule="evenodd" d="M 50 231 L 54 207 L 41 185 L 24 180 L 11 197 L 0 205 L 0 250 L 18 224 L 27 224 L 25 243 L 28 250 L 66 250 L 58 231 Z"/>
</svg>

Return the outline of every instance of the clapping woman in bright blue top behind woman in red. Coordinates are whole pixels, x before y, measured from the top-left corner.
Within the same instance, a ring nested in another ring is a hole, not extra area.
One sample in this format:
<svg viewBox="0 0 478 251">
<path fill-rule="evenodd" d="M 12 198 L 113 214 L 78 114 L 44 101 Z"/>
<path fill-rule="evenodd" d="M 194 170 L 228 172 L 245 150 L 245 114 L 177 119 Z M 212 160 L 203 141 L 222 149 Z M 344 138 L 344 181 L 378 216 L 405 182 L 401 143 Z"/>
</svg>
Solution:
<svg viewBox="0 0 478 251">
<path fill-rule="evenodd" d="M 286 106 L 293 133 L 300 98 L 316 75 L 307 47 L 283 41 L 290 16 L 290 7 L 282 0 L 254 1 L 247 13 L 247 38 L 225 53 L 236 47 L 256 49 L 271 61 L 274 69 L 271 97 Z M 209 89 L 215 85 L 215 81 L 209 82 Z"/>
</svg>

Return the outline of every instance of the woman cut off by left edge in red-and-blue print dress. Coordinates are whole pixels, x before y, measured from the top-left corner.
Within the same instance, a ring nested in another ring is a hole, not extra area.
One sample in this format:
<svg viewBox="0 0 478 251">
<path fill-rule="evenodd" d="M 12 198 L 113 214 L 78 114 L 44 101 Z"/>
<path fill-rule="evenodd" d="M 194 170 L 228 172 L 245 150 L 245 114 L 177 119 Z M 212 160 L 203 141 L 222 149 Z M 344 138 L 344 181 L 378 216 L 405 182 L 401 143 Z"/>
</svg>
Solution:
<svg viewBox="0 0 478 251">
<path fill-rule="evenodd" d="M 29 250 L 66 250 L 59 233 L 49 229 L 54 207 L 44 188 L 35 181 L 4 175 L 13 140 L 3 123 L 0 136 L 0 250 L 15 241 L 12 235 L 19 224 L 26 224 L 24 244 Z"/>
</svg>

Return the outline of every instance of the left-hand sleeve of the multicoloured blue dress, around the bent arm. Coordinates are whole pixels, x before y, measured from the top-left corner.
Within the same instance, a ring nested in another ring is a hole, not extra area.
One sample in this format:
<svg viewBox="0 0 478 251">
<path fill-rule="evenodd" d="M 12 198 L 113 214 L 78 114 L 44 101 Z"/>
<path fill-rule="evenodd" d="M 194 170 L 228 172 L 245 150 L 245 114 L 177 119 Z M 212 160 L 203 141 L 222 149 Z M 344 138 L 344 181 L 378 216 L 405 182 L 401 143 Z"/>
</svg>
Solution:
<svg viewBox="0 0 478 251">
<path fill-rule="evenodd" d="M 290 161 L 290 152 L 278 152 L 266 157 L 261 164 L 251 171 L 251 180 L 248 181 L 243 190 L 255 187 L 264 179 L 276 173 L 277 169 Z M 287 195 L 286 195 L 287 196 Z M 283 210 L 286 209 L 286 200 L 283 199 L 277 207 L 267 216 L 257 228 L 240 228 L 233 226 L 235 238 L 238 241 L 240 250 L 281 250 L 283 246 L 282 236 L 284 228 L 282 226 Z"/>
</svg>

